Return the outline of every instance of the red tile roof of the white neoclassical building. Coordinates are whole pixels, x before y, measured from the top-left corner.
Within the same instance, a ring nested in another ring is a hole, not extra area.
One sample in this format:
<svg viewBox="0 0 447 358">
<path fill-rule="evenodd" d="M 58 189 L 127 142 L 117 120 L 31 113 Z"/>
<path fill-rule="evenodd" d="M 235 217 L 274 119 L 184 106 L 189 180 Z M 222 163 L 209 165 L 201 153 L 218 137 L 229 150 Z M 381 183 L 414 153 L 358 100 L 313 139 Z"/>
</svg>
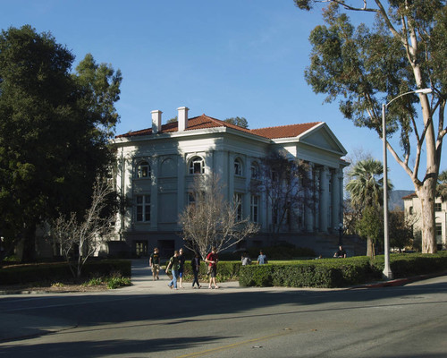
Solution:
<svg viewBox="0 0 447 358">
<path fill-rule="evenodd" d="M 291 125 L 282 125 L 279 127 L 269 127 L 269 128 L 260 128 L 249 130 L 246 128 L 242 128 L 238 125 L 229 124 L 227 122 L 221 121 L 219 119 L 215 119 L 209 117 L 207 115 L 199 115 L 197 117 L 189 118 L 188 125 L 186 131 L 192 131 L 196 129 L 207 129 L 207 128 L 219 128 L 226 127 L 232 128 L 241 132 L 248 132 L 252 134 L 256 134 L 260 137 L 265 137 L 268 139 L 275 138 L 292 138 L 297 137 L 299 134 L 308 131 L 310 128 L 316 126 L 316 124 L 320 124 L 321 122 L 314 122 L 308 124 L 291 124 Z M 178 131 L 178 122 L 173 122 L 170 124 L 163 124 L 161 132 L 164 133 L 172 133 Z M 150 135 L 152 134 L 152 128 L 143 129 L 141 131 L 136 132 L 128 132 L 125 134 L 117 135 L 115 138 L 127 138 L 141 135 Z"/>
</svg>

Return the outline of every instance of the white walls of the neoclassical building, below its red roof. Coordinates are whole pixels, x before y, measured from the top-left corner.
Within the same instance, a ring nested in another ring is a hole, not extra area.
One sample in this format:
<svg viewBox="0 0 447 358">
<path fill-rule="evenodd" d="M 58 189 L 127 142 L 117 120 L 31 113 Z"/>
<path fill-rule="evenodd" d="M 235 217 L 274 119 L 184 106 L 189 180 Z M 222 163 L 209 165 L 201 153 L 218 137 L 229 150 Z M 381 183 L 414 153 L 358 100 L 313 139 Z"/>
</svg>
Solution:
<svg viewBox="0 0 447 358">
<path fill-rule="evenodd" d="M 182 245 L 178 217 L 187 205 L 188 188 L 193 182 L 190 161 L 204 159 L 205 173 L 219 175 L 225 200 L 232 200 L 235 192 L 242 195 L 243 216 L 250 214 L 249 182 L 251 163 L 259 162 L 273 146 L 285 149 L 291 158 L 303 158 L 311 164 L 316 182 L 316 204 L 300 213 L 291 230 L 308 233 L 309 240 L 316 234 L 327 234 L 342 223 L 342 168 L 340 153 L 314 149 L 297 141 L 274 143 L 225 131 L 188 131 L 174 135 L 146 136 L 116 144 L 116 187 L 131 206 L 119 215 L 116 240 L 125 240 L 133 253 L 144 254 L 158 246 L 166 251 Z M 301 156 L 302 153 L 302 156 Z M 234 175 L 234 161 L 240 160 L 241 175 Z M 148 162 L 150 177 L 139 178 L 137 166 Z M 135 207 L 141 197 L 150 196 L 150 220 L 138 222 Z M 266 233 L 272 217 L 266 206 L 265 195 L 259 202 L 261 232 L 252 243 L 266 243 Z M 289 235 L 290 236 L 290 235 Z"/>
</svg>

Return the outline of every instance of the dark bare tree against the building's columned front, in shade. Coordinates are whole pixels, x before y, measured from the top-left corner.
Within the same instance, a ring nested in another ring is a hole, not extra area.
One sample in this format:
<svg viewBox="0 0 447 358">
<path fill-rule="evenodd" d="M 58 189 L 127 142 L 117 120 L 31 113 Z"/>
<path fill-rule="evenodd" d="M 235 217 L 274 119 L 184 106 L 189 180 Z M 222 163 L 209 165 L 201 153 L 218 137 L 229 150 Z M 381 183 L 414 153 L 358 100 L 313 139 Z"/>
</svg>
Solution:
<svg viewBox="0 0 447 358">
<path fill-rule="evenodd" d="M 261 177 L 250 183 L 250 191 L 266 194 L 272 209 L 272 234 L 276 237 L 283 226 L 298 220 L 306 206 L 315 203 L 314 182 L 309 166 L 297 158 L 290 159 L 280 151 L 271 152 L 261 161 Z"/>
</svg>

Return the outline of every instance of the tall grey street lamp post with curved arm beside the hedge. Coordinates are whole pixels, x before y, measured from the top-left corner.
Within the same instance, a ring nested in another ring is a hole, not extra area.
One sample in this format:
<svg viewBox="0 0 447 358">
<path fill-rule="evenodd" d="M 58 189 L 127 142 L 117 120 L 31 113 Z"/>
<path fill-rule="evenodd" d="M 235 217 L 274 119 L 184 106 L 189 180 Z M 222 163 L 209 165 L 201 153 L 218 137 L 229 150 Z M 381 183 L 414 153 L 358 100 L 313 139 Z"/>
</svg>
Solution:
<svg viewBox="0 0 447 358">
<path fill-rule="evenodd" d="M 386 155 L 386 120 L 385 120 L 385 109 L 388 107 L 392 101 L 397 98 L 409 95 L 410 93 L 432 93 L 432 89 L 422 89 L 422 90 L 411 90 L 406 93 L 402 93 L 396 98 L 388 103 L 382 105 L 382 140 L 384 144 L 384 277 L 386 279 L 392 279 L 392 270 L 390 267 L 390 235 L 388 233 L 388 165 L 387 165 L 387 155 Z"/>
</svg>

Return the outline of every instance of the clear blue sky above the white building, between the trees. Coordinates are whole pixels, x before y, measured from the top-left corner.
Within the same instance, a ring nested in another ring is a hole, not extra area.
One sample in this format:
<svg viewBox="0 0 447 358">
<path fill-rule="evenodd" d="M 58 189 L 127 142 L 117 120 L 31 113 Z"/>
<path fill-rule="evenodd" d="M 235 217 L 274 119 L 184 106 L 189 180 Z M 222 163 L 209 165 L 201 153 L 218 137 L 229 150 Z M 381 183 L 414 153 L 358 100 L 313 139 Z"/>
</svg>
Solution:
<svg viewBox="0 0 447 358">
<path fill-rule="evenodd" d="M 299 11 L 292 0 L 4 0 L 0 28 L 30 24 L 50 31 L 76 62 L 91 53 L 122 71 L 117 134 L 163 122 L 178 107 L 190 116 L 247 118 L 249 128 L 324 121 L 348 150 L 382 160 L 374 132 L 324 104 L 304 80 L 308 35 L 321 13 Z M 395 189 L 413 185 L 391 155 Z"/>
</svg>

